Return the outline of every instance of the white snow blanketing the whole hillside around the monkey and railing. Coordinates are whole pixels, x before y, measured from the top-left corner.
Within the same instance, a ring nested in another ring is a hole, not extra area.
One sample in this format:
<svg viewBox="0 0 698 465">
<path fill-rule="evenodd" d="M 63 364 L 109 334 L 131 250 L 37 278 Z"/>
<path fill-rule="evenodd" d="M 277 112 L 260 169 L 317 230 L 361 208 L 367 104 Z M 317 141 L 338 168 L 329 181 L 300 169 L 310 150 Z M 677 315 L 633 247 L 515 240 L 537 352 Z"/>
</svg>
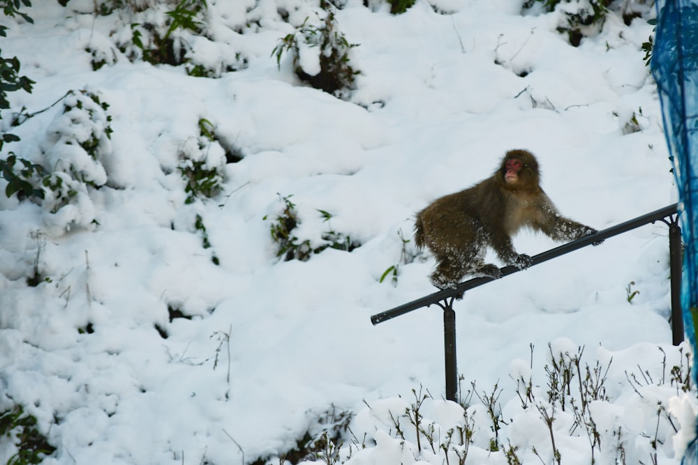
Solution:
<svg viewBox="0 0 698 465">
<path fill-rule="evenodd" d="M 467 408 L 443 400 L 438 308 L 371 325 L 372 314 L 435 290 L 433 259 L 410 261 L 415 212 L 489 176 L 510 148 L 533 151 L 560 212 L 597 229 L 676 198 L 642 61 L 645 20 L 626 26 L 611 14 L 575 48 L 556 31 L 559 12 L 521 15 L 520 0 L 417 0 L 403 15 L 348 0 L 336 18 L 360 44 L 351 57 L 361 74 L 345 101 L 299 82 L 288 56 L 281 68 L 272 56 L 318 12 L 315 1 L 209 0 L 214 40 L 187 37 L 195 63 L 221 65 L 217 79 L 131 62 L 138 50 L 119 49 L 130 24 L 164 20 L 173 3 L 108 16 L 95 15 L 93 1 L 34 3 L 26 11 L 35 24 L 0 19 L 9 26 L 3 57 L 16 55 L 36 81 L 31 94 L 10 93 L 2 130 L 22 140 L 6 149 L 77 194 L 64 206 L 0 196 L 0 411 L 21 404 L 36 416 L 57 448 L 45 464 L 277 463 L 333 408 L 355 415 L 358 445 L 345 436 L 341 449 L 352 465 L 456 463 L 464 446 L 455 436 L 447 452 L 440 444 L 470 420 L 466 463 L 507 463 L 489 450 L 491 419 L 477 396 Z M 107 63 L 93 70 L 86 49 Z M 304 50 L 306 70 L 316 52 Z M 236 54 L 246 68 L 225 71 L 241 63 Z M 94 119 L 64 114 L 78 95 Z M 22 107 L 45 112 L 10 128 Z M 639 130 L 624 131 L 633 116 Z M 201 119 L 216 142 L 200 135 Z M 76 145 L 91 135 L 97 159 Z M 226 164 L 225 151 L 243 158 Z M 217 167 L 221 192 L 188 203 L 186 162 Z M 298 243 L 318 247 L 335 231 L 360 247 L 279 259 L 269 231 L 284 197 L 295 204 Z M 555 243 L 522 232 L 514 245 L 534 255 Z M 390 266 L 396 282 L 379 282 Z M 41 279 L 29 287 L 35 267 Z M 667 227 L 657 222 L 456 301 L 461 396 L 471 383 L 480 395 L 497 384 L 501 448 L 552 463 L 536 408 L 556 405 L 546 397 L 551 344 L 555 356 L 584 347 L 582 369 L 610 363 L 609 399 L 589 406 L 599 463 L 623 463 L 618 445 L 628 463 L 653 454 L 680 463 L 698 407 L 669 374 L 688 370 L 688 346 L 671 346 L 668 277 Z M 628 289 L 639 291 L 630 302 Z M 526 407 L 519 380 L 533 380 Z M 404 416 L 419 394 L 433 450 L 424 434 L 417 446 Z M 555 415 L 563 462 L 591 463 L 584 429 L 570 433 L 569 404 Z M 16 449 L 0 444 L 2 462 Z"/>
</svg>

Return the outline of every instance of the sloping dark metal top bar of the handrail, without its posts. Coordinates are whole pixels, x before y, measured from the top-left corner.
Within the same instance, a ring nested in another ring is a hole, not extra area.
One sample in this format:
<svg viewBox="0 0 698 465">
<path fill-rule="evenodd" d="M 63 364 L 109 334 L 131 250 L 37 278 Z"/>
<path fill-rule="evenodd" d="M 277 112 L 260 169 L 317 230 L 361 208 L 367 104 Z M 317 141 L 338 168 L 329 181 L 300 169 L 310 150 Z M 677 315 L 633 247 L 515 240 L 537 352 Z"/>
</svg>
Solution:
<svg viewBox="0 0 698 465">
<path fill-rule="evenodd" d="M 603 241 L 604 239 L 611 238 L 613 236 L 618 236 L 618 234 L 623 234 L 624 232 L 639 228 L 641 226 L 644 226 L 645 224 L 662 220 L 663 218 L 667 218 L 668 216 L 674 215 L 677 212 L 678 204 L 672 204 L 669 206 L 665 206 L 664 208 L 660 208 L 659 210 L 655 210 L 651 213 L 647 213 L 646 215 L 641 215 L 637 218 L 633 218 L 632 220 L 628 220 L 621 224 L 616 224 L 615 226 L 611 226 L 602 231 L 598 231 L 596 234 L 593 234 L 591 236 L 579 238 L 577 239 L 577 241 L 572 241 L 570 243 L 566 243 L 553 249 L 542 252 L 540 254 L 537 254 L 531 257 L 531 259 L 533 260 L 531 266 L 542 264 L 544 261 L 548 261 L 556 257 L 560 257 L 560 255 L 574 252 L 574 250 L 581 249 L 581 247 L 586 247 L 587 245 L 591 245 L 595 242 Z M 521 271 L 519 268 L 512 265 L 500 268 L 500 270 L 502 272 L 502 277 L 513 275 L 514 273 Z M 373 316 L 371 316 L 371 323 L 377 325 L 378 323 L 383 323 L 383 321 L 399 317 L 400 315 L 412 312 L 413 310 L 417 310 L 422 307 L 429 307 L 429 305 L 438 303 L 441 300 L 444 300 L 445 298 L 456 296 L 458 294 L 463 293 L 464 291 L 468 291 L 475 287 L 482 286 L 482 284 L 486 284 L 487 282 L 493 280 L 494 279 L 491 277 L 475 277 L 472 280 L 461 282 L 460 284 L 458 284 L 458 286 L 456 286 L 455 289 L 444 289 L 443 291 L 434 292 L 433 294 L 429 294 L 428 296 L 424 296 L 422 298 L 418 298 L 417 300 L 413 300 L 412 302 L 408 302 L 403 305 L 399 305 L 398 307 L 394 307 L 391 310 L 386 310 L 385 312 L 374 314 Z"/>
</svg>

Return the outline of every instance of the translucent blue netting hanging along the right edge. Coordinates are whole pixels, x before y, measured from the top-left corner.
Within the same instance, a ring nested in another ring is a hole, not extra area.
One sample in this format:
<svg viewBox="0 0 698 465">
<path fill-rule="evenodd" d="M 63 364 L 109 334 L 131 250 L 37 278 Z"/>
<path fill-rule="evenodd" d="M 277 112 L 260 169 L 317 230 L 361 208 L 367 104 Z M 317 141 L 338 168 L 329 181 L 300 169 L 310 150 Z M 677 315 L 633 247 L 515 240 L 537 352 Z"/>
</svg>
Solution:
<svg viewBox="0 0 698 465">
<path fill-rule="evenodd" d="M 662 102 L 664 133 L 678 188 L 679 224 L 685 245 L 681 283 L 685 333 L 697 354 L 694 319 L 698 319 L 698 0 L 657 0 L 656 6 L 658 22 L 651 68 Z M 694 362 L 694 383 L 698 381 L 696 374 Z M 698 465 L 695 441 L 682 463 Z"/>
</svg>

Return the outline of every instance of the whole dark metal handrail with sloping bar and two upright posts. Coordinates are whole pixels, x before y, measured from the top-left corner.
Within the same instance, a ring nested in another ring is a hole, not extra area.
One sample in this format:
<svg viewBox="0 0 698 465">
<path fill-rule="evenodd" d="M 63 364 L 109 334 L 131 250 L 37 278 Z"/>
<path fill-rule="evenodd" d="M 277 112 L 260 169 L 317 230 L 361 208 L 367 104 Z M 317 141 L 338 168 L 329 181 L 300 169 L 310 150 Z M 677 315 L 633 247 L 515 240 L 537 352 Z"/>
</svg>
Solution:
<svg viewBox="0 0 698 465">
<path fill-rule="evenodd" d="M 674 216 L 676 215 L 676 216 Z M 667 220 L 669 218 L 669 220 Z M 683 315 L 681 314 L 681 227 L 678 226 L 678 206 L 677 204 L 665 206 L 659 210 L 655 210 L 646 215 L 641 215 L 632 220 L 628 220 L 616 226 L 609 227 L 596 234 L 586 236 L 547 250 L 540 254 L 531 257 L 532 264 L 535 266 L 542 264 L 544 261 L 560 257 L 560 255 L 568 254 L 574 250 L 581 249 L 593 243 L 603 241 L 604 239 L 618 236 L 632 229 L 639 228 L 645 224 L 650 224 L 656 221 L 662 221 L 669 226 L 669 268 L 671 270 L 671 333 L 674 345 L 681 344 L 683 341 Z M 505 266 L 500 268 L 502 277 L 512 275 L 521 271 L 516 266 Z M 493 281 L 492 277 L 475 277 L 472 280 L 464 281 L 458 284 L 454 289 L 444 289 L 443 291 L 434 292 L 429 296 L 424 296 L 413 300 L 412 302 L 399 305 L 391 310 L 374 314 L 371 317 L 371 323 L 377 325 L 389 319 L 399 317 L 413 310 L 422 307 L 429 307 L 436 304 L 443 309 L 443 328 L 444 328 L 444 359 L 446 369 L 446 399 L 456 401 L 457 396 L 457 369 L 456 369 L 456 313 L 453 310 L 453 301 L 456 296 L 463 294 L 465 291 L 474 289 Z"/>
</svg>

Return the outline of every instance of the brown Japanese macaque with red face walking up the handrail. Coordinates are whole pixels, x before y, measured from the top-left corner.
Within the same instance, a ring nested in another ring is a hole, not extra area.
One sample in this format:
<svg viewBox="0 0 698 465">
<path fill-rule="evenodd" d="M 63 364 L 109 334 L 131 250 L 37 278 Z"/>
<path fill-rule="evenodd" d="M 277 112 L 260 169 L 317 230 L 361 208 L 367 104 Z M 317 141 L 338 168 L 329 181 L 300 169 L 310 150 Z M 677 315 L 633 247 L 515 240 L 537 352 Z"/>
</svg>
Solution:
<svg viewBox="0 0 698 465">
<path fill-rule="evenodd" d="M 524 227 L 542 231 L 555 241 L 596 233 L 560 216 L 540 188 L 533 153 L 511 150 L 490 178 L 436 199 L 417 213 L 415 243 L 428 247 L 436 257 L 432 284 L 452 289 L 464 275 L 502 276 L 498 266 L 484 263 L 488 246 L 504 264 L 528 268 L 531 258 L 518 254 L 512 245 L 512 235 Z"/>
</svg>

